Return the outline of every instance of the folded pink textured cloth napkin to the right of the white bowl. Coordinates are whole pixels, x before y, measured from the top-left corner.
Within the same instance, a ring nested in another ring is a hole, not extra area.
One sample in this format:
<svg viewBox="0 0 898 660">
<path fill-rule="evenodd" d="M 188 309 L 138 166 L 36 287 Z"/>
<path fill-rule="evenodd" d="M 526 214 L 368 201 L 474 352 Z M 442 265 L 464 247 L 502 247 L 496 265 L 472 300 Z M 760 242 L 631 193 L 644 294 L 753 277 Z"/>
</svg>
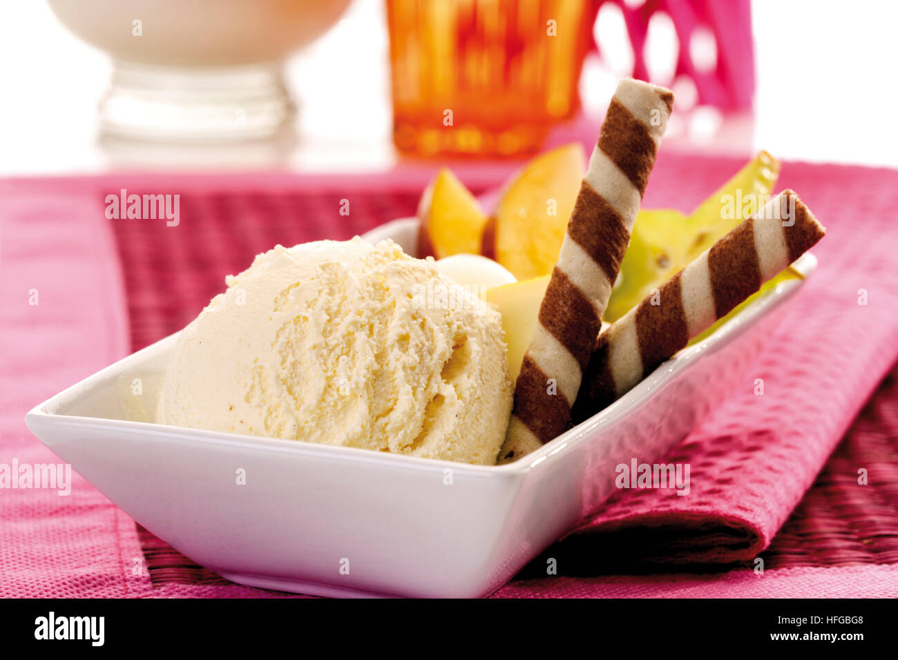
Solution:
<svg viewBox="0 0 898 660">
<path fill-rule="evenodd" d="M 681 167 L 716 187 L 714 161 Z M 622 491 L 568 537 L 570 550 L 664 563 L 752 559 L 898 358 L 898 174 L 787 163 L 779 188 L 799 191 L 827 228 L 813 250 L 820 265 L 742 387 L 665 459 L 691 465 L 689 496 Z"/>
</svg>

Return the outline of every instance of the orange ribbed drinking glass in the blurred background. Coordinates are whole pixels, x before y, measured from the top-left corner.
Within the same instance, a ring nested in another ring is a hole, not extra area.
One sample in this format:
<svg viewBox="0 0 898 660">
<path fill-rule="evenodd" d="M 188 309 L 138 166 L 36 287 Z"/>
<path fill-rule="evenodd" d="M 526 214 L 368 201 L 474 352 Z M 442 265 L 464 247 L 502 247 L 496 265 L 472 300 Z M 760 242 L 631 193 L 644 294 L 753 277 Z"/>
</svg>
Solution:
<svg viewBox="0 0 898 660">
<path fill-rule="evenodd" d="M 386 0 L 401 152 L 533 152 L 579 109 L 591 0 Z"/>
</svg>

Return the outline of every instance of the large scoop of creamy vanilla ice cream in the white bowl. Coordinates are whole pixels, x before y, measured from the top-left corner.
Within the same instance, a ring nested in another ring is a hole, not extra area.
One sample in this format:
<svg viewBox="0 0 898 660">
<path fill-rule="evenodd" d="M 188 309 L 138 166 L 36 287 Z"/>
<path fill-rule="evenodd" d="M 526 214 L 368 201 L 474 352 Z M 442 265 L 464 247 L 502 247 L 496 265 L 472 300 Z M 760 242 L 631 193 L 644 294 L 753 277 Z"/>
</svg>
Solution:
<svg viewBox="0 0 898 660">
<path fill-rule="evenodd" d="M 183 330 L 160 421 L 493 464 L 511 412 L 499 313 L 392 241 L 260 254 Z"/>
</svg>

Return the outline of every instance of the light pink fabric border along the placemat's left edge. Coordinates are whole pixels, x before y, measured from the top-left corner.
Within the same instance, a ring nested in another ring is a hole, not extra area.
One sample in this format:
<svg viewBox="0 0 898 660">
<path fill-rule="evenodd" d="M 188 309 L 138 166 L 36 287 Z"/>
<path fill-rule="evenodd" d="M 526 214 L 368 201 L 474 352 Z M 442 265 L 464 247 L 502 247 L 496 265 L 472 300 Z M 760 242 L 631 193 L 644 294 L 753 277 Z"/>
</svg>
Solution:
<svg viewBox="0 0 898 660">
<path fill-rule="evenodd" d="M 24 415 L 128 354 L 128 318 L 109 226 L 92 195 L 0 181 L 0 463 L 59 460 Z M 65 472 L 61 472 L 64 474 Z M 0 597 L 151 591 L 134 522 L 71 472 L 71 492 L 0 489 Z"/>
</svg>

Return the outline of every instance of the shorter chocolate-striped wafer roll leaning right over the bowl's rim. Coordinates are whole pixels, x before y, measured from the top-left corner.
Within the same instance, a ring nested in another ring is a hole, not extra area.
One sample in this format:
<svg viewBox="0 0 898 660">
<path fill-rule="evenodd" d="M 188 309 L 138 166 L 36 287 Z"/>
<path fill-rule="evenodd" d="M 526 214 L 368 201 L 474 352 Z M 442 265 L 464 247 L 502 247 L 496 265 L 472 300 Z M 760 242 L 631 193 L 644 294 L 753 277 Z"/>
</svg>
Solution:
<svg viewBox="0 0 898 660">
<path fill-rule="evenodd" d="M 585 370 L 574 420 L 593 416 L 627 392 L 824 233 L 792 190 L 770 199 L 603 331 Z"/>
</svg>

